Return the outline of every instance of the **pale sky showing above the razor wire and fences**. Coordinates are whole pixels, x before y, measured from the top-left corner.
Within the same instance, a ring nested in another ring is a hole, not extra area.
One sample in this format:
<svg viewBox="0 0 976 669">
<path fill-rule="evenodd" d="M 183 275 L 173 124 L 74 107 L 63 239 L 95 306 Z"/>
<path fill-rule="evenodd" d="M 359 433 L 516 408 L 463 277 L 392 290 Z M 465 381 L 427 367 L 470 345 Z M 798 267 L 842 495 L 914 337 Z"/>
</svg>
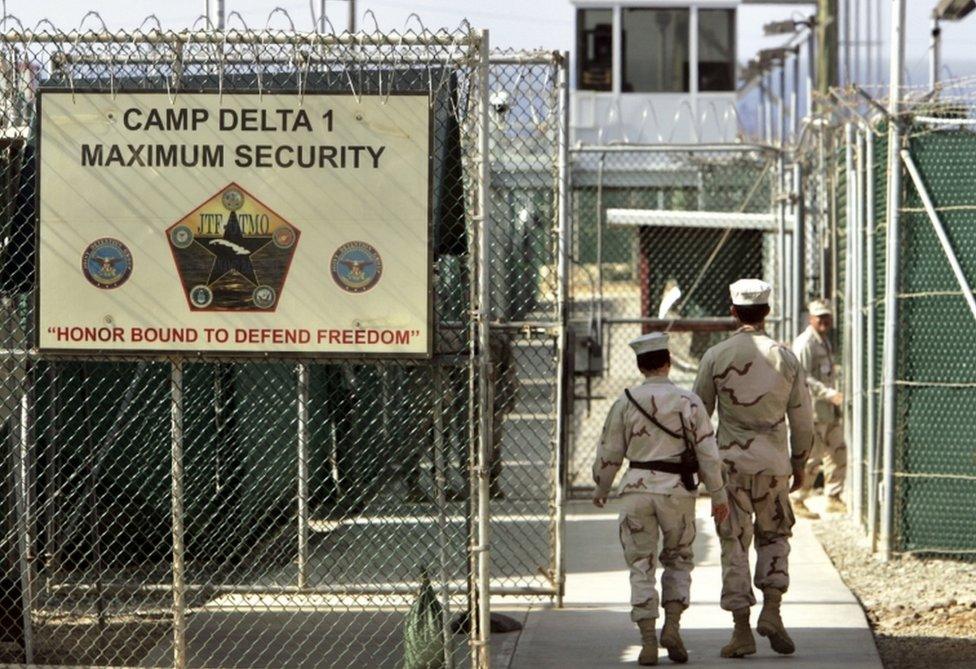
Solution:
<svg viewBox="0 0 976 669">
<path fill-rule="evenodd" d="M 216 0 L 213 0 L 216 2 Z M 843 2 L 844 0 L 841 0 Z M 862 16 L 864 7 L 887 8 L 889 0 L 855 0 Z M 239 12 L 251 27 L 264 27 L 269 12 L 276 6 L 287 10 L 296 28 L 312 29 L 310 4 L 317 10 L 319 0 L 226 0 L 228 14 Z M 203 0 L 7 0 L 7 12 L 17 16 L 25 25 L 33 26 L 47 18 L 59 27 L 77 27 L 91 9 L 97 11 L 111 29 L 135 27 L 144 17 L 155 14 L 165 28 L 178 29 L 191 25 L 203 12 Z M 854 2 L 851 2 L 853 5 Z M 908 0 L 906 35 L 906 66 L 909 83 L 923 83 L 926 72 L 929 42 L 929 14 L 936 0 Z M 326 15 L 338 29 L 346 26 L 346 0 L 327 0 Z M 573 8 L 568 0 L 358 0 L 357 13 L 362 16 L 371 10 L 382 29 L 402 28 L 411 13 L 417 13 L 428 28 L 456 27 L 467 18 L 476 28 L 490 30 L 495 47 L 571 49 L 573 46 Z M 761 48 L 777 46 L 783 37 L 764 38 L 762 25 L 767 21 L 802 17 L 813 11 L 813 4 L 744 5 L 739 9 L 740 62 L 748 60 Z M 372 21 L 367 19 L 367 25 Z M 872 23 L 874 23 L 872 21 Z M 89 18 L 89 27 L 97 25 Z M 233 25 L 233 23 L 231 24 Z M 276 28 L 288 27 L 281 14 L 272 19 Z M 862 23 L 863 25 L 863 23 Z M 887 21 L 884 21 L 887 26 Z M 883 37 L 887 42 L 887 27 Z M 943 76 L 976 74 L 976 59 L 972 56 L 972 36 L 976 34 L 976 15 L 957 24 L 943 25 Z M 887 49 L 887 47 L 885 47 Z"/>
</svg>

